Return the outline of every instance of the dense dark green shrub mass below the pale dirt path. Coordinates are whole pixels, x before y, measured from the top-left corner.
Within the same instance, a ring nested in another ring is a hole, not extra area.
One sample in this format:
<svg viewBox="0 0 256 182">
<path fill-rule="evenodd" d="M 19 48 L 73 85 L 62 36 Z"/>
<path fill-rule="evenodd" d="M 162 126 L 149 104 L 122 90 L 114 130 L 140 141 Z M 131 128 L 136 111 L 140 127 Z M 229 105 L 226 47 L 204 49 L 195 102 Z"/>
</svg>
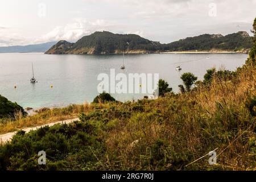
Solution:
<svg viewBox="0 0 256 182">
<path fill-rule="evenodd" d="M 97 123 L 75 122 L 71 125 L 42 127 L 27 134 L 19 131 L 11 142 L 0 146 L 0 170 L 66 169 L 69 155 L 79 150 L 85 151 L 86 160 L 82 166 L 86 166 L 87 162 L 95 163 L 97 159 L 93 152 L 97 154 L 104 150 L 104 144 L 95 136 L 99 133 L 99 127 Z M 46 166 L 38 164 L 39 151 L 46 152 Z"/>
</svg>

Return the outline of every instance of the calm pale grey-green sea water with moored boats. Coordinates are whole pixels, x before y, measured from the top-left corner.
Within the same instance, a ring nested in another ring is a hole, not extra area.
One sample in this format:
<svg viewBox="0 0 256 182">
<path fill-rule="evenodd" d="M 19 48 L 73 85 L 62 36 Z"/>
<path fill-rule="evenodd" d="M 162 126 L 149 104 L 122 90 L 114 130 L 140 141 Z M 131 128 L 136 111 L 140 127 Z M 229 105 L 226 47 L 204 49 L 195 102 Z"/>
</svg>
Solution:
<svg viewBox="0 0 256 182">
<path fill-rule="evenodd" d="M 208 57 L 208 59 L 207 59 Z M 127 55 L 122 71 L 122 55 L 44 55 L 43 53 L 0 53 L 0 94 L 23 107 L 58 107 L 91 102 L 97 96 L 100 73 L 159 73 L 175 92 L 180 76 L 191 72 L 200 80 L 209 68 L 235 70 L 245 64 L 241 53 L 189 53 Z M 184 62 L 184 63 L 180 63 Z M 38 83 L 32 85 L 31 63 Z M 175 68 L 181 65 L 182 70 Z M 16 85 L 16 89 L 14 86 Z M 51 88 L 51 86 L 53 88 Z M 142 98 L 142 95 L 114 94 L 117 100 Z"/>
</svg>

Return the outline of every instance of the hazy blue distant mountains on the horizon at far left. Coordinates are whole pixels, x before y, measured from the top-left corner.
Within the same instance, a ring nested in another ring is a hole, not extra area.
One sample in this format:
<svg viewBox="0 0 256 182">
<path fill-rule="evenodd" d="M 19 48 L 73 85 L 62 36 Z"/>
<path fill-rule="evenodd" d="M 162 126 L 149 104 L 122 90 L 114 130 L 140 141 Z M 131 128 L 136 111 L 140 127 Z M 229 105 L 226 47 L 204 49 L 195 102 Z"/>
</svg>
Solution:
<svg viewBox="0 0 256 182">
<path fill-rule="evenodd" d="M 46 52 L 49 48 L 55 45 L 57 42 L 47 42 L 43 44 L 34 44 L 28 46 L 8 46 L 0 47 L 0 53 L 9 52 Z"/>
</svg>

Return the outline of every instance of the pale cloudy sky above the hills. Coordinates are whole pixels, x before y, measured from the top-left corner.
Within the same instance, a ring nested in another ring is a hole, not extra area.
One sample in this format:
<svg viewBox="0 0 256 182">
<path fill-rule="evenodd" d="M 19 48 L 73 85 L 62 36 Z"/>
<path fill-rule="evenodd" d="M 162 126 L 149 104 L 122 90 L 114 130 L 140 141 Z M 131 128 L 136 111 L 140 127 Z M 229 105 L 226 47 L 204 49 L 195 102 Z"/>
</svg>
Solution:
<svg viewBox="0 0 256 182">
<path fill-rule="evenodd" d="M 250 33 L 255 16 L 256 0 L 1 0 L 0 46 L 76 42 L 95 31 L 170 43 Z"/>
</svg>

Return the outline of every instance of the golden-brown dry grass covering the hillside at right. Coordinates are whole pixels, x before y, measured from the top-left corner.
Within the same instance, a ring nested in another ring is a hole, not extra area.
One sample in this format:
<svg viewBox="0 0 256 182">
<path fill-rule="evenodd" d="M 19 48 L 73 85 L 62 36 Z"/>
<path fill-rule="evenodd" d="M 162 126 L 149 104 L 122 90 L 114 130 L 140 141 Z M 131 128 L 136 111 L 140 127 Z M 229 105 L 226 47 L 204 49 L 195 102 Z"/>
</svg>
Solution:
<svg viewBox="0 0 256 182">
<path fill-rule="evenodd" d="M 255 118 L 251 120 L 245 107 L 248 98 L 256 96 L 254 68 L 246 65 L 232 81 L 214 80 L 209 88 L 159 98 L 142 104 L 143 113 L 111 121 L 114 127 L 104 135 L 109 164 L 106 169 L 115 169 L 118 164 L 121 169 L 143 170 L 145 163 L 148 170 L 255 169 L 256 158 L 249 151 L 250 140 L 256 137 Z M 158 140 L 163 144 L 154 154 L 152 148 Z M 215 148 L 218 165 L 209 166 L 207 157 L 184 167 L 186 161 L 193 162 Z M 170 158 L 184 164 L 175 168 L 168 163 Z"/>
</svg>

